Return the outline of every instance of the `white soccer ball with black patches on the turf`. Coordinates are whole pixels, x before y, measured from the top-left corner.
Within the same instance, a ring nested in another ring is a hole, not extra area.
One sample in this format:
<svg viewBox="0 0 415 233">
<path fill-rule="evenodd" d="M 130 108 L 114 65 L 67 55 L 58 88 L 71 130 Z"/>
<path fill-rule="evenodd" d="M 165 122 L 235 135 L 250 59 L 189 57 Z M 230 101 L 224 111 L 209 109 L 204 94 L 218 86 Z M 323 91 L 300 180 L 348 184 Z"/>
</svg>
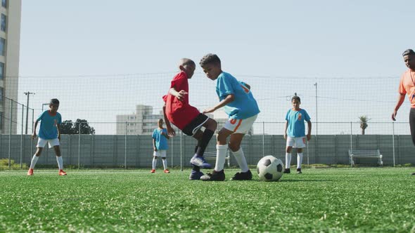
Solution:
<svg viewBox="0 0 415 233">
<path fill-rule="evenodd" d="M 261 180 L 279 180 L 283 175 L 283 162 L 272 155 L 267 155 L 258 162 L 257 173 Z"/>
</svg>

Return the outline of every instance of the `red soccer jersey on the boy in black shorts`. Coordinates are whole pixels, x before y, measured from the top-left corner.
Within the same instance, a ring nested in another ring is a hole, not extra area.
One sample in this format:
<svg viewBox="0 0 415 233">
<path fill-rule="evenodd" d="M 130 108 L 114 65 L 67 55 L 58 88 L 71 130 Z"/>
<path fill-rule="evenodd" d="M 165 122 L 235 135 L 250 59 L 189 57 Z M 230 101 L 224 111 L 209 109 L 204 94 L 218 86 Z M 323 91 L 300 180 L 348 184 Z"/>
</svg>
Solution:
<svg viewBox="0 0 415 233">
<path fill-rule="evenodd" d="M 187 81 L 187 74 L 180 72 L 176 74 L 172 80 L 170 88 L 174 88 L 176 91 L 186 91 L 188 94 L 182 98 L 182 101 L 178 100 L 174 95 L 167 93 L 163 96 L 163 100 L 166 103 L 166 116 L 172 124 L 183 130 L 193 119 L 200 114 L 196 107 L 189 105 L 189 82 Z"/>
</svg>

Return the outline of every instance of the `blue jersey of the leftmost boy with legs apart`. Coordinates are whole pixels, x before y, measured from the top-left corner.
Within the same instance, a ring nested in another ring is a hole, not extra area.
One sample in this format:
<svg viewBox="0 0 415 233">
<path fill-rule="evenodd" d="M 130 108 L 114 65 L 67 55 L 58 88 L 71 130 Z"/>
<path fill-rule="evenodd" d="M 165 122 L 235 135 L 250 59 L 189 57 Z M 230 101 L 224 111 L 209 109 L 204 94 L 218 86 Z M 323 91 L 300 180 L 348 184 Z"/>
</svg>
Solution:
<svg viewBox="0 0 415 233">
<path fill-rule="evenodd" d="M 49 110 L 42 112 L 37 121 L 40 121 L 39 138 L 43 139 L 55 139 L 58 138 L 58 124 L 62 124 L 62 116 L 59 112 L 56 112 L 54 116 L 51 115 Z"/>
</svg>

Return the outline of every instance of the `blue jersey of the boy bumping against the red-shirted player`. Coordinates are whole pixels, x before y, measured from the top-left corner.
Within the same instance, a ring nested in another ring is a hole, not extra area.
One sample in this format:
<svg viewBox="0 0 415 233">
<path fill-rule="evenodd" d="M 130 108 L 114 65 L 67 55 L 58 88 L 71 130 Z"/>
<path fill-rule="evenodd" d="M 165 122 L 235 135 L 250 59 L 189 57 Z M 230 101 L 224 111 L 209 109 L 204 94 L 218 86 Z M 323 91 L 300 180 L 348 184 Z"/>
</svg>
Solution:
<svg viewBox="0 0 415 233">
<path fill-rule="evenodd" d="M 219 96 L 219 101 L 224 100 L 229 94 L 235 96 L 234 101 L 224 107 L 226 114 L 231 119 L 247 119 L 260 113 L 260 108 L 252 92 L 231 74 L 222 72 L 217 76 L 216 93 Z"/>
</svg>

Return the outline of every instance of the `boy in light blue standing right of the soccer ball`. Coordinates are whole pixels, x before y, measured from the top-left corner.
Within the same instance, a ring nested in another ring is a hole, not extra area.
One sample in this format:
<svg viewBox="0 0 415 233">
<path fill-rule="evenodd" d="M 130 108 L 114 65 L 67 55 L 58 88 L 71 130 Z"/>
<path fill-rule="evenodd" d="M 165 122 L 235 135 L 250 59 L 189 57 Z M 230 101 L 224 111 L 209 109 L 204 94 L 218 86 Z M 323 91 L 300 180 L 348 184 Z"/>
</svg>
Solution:
<svg viewBox="0 0 415 233">
<path fill-rule="evenodd" d="M 290 173 L 291 150 L 293 147 L 297 148 L 297 173 L 302 173 L 302 148 L 305 147 L 305 124 L 307 121 L 307 140 L 311 138 L 312 124 L 310 117 L 305 109 L 300 109 L 301 99 L 297 95 L 291 98 L 293 108 L 289 109 L 286 114 L 286 129 L 284 131 L 284 138 L 287 140 L 286 145 L 286 168 L 284 173 Z"/>
</svg>

